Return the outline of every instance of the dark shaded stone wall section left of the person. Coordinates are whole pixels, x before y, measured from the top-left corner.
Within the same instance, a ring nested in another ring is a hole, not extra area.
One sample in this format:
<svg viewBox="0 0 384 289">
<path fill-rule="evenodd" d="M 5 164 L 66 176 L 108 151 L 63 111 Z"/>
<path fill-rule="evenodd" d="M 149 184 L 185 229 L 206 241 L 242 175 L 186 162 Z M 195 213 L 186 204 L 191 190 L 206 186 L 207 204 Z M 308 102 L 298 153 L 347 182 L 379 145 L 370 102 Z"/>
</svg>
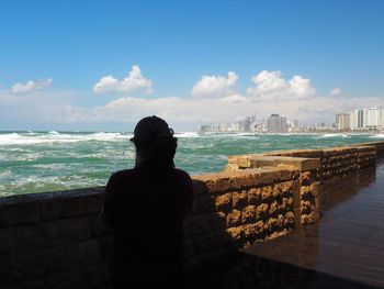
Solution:
<svg viewBox="0 0 384 289">
<path fill-rule="evenodd" d="M 0 287 L 108 284 L 112 238 L 99 216 L 101 192 L 94 188 L 0 198 Z"/>
</svg>

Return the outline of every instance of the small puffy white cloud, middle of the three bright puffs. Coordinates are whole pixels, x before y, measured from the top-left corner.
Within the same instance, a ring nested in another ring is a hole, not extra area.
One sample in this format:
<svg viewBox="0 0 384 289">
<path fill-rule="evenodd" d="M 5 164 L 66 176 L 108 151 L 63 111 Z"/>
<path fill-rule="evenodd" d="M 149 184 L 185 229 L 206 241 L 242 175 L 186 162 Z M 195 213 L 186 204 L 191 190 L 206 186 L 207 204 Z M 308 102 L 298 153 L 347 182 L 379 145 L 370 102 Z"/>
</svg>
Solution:
<svg viewBox="0 0 384 289">
<path fill-rule="evenodd" d="M 193 86 L 192 96 L 195 98 L 217 98 L 235 93 L 238 76 L 229 71 L 224 76 L 202 76 Z"/>
</svg>

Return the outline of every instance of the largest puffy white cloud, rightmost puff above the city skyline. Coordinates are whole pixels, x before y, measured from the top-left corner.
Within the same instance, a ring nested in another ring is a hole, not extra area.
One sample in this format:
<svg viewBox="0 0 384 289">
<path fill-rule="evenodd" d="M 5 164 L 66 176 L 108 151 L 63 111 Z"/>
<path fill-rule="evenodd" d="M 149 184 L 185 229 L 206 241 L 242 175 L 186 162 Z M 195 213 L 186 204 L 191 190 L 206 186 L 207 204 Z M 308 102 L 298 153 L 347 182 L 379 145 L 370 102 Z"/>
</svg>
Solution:
<svg viewBox="0 0 384 289">
<path fill-rule="evenodd" d="M 281 71 L 263 70 L 252 81 L 256 86 L 248 88 L 247 95 L 256 100 L 307 99 L 316 95 L 309 79 L 298 75 L 286 80 Z"/>
</svg>

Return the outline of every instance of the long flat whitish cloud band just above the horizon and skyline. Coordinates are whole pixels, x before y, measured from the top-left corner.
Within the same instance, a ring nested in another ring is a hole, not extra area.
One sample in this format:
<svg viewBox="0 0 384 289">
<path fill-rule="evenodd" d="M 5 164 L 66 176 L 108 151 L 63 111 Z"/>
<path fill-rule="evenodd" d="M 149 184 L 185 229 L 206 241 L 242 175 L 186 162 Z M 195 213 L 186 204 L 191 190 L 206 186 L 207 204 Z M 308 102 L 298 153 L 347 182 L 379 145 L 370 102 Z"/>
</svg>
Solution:
<svg viewBox="0 0 384 289">
<path fill-rule="evenodd" d="M 253 100 L 241 95 L 225 98 L 194 99 L 167 97 L 144 99 L 123 97 L 94 108 L 70 107 L 61 113 L 48 113 L 52 122 L 59 123 L 135 123 L 143 116 L 159 115 L 180 126 L 196 127 L 203 123 L 231 122 L 238 115 L 256 113 L 266 119 L 271 113 L 280 113 L 296 119 L 302 124 L 331 123 L 335 113 L 351 111 L 354 108 L 384 105 L 379 98 L 336 98 L 316 96 L 308 99 L 282 99 L 279 102 Z"/>
</svg>

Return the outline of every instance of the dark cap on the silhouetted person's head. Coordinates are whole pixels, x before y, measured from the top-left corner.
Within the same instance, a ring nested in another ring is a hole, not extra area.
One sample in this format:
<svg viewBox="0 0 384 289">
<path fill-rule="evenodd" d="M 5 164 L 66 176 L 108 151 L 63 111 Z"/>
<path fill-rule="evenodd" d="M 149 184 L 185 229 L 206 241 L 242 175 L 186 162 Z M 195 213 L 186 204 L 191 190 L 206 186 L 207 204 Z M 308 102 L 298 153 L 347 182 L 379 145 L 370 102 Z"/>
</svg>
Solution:
<svg viewBox="0 0 384 289">
<path fill-rule="evenodd" d="M 158 135 L 172 136 L 173 130 L 168 126 L 165 120 L 153 115 L 142 119 L 136 124 L 134 137 L 129 141 L 134 143 L 147 143 Z"/>
</svg>

